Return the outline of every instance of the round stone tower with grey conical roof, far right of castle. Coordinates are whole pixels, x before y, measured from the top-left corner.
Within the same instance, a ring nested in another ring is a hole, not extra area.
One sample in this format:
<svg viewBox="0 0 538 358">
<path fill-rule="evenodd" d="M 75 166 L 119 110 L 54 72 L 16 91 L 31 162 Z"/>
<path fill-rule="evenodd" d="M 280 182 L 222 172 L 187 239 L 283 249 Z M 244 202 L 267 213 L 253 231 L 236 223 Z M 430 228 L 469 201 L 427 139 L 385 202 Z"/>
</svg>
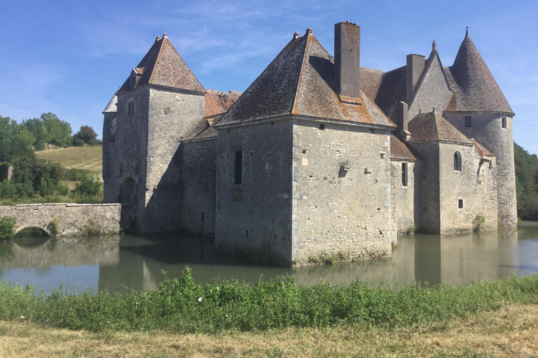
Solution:
<svg viewBox="0 0 538 358">
<path fill-rule="evenodd" d="M 469 33 L 447 71 L 454 95 L 446 118 L 467 138 L 497 157 L 499 224 L 517 224 L 516 174 L 513 163 L 512 108 L 495 82 Z"/>
</svg>

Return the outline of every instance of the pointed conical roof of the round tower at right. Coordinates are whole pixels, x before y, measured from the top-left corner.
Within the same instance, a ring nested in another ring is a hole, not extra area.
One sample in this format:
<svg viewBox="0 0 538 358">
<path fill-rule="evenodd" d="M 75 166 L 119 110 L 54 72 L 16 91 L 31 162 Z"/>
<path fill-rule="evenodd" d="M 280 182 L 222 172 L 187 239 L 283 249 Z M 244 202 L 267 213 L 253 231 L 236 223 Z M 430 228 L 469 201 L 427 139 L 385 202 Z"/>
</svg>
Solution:
<svg viewBox="0 0 538 358">
<path fill-rule="evenodd" d="M 513 110 L 467 34 L 447 76 L 455 96 L 446 110 Z"/>
</svg>

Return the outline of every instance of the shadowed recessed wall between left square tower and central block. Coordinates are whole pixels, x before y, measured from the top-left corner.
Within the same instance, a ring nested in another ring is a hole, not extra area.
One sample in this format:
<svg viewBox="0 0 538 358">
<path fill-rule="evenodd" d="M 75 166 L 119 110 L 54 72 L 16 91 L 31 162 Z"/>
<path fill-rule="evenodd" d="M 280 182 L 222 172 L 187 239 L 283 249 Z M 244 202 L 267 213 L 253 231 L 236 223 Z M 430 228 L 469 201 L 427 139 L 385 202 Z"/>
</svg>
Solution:
<svg viewBox="0 0 538 358">
<path fill-rule="evenodd" d="M 215 235 L 216 138 L 181 145 L 180 231 Z M 203 213 L 203 215 L 202 215 Z"/>
</svg>

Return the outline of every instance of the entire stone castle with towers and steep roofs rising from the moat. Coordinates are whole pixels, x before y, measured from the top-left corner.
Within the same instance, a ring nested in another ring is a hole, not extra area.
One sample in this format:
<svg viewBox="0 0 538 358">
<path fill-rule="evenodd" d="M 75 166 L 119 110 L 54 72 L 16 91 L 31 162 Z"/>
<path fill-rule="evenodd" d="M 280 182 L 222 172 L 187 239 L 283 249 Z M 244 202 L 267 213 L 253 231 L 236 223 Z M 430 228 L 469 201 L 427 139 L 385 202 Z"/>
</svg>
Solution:
<svg viewBox="0 0 538 358">
<path fill-rule="evenodd" d="M 297 32 L 243 92 L 205 90 L 165 34 L 104 110 L 104 200 L 137 231 L 296 266 L 390 255 L 399 232 L 517 222 L 513 111 L 467 33 L 454 64 L 360 66 Z"/>
</svg>

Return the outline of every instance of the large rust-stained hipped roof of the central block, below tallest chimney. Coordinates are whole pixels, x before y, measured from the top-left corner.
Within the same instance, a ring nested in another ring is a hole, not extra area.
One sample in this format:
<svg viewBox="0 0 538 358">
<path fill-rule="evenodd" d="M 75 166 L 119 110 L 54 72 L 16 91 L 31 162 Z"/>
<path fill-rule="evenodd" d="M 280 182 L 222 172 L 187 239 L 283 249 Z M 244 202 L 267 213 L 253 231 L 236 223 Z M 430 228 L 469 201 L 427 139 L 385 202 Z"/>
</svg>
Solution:
<svg viewBox="0 0 538 358">
<path fill-rule="evenodd" d="M 291 40 L 223 115 L 220 124 L 302 115 L 395 127 L 361 91 L 361 105 L 340 101 L 333 91 L 333 58 L 307 30 Z"/>
</svg>

